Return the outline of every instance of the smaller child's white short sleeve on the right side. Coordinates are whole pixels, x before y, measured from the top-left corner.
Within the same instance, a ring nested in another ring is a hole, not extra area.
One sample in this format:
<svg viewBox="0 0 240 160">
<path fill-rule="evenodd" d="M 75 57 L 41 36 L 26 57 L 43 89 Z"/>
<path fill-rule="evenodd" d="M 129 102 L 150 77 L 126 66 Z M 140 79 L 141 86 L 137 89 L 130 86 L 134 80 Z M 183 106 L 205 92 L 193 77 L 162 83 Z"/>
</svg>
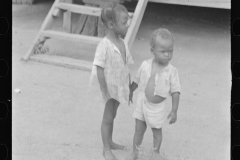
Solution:
<svg viewBox="0 0 240 160">
<path fill-rule="evenodd" d="M 170 88 L 170 93 L 174 93 L 174 92 L 180 92 L 181 87 L 180 87 L 180 82 L 179 82 L 179 77 L 178 77 L 178 71 L 175 68 L 171 74 L 171 78 L 170 78 L 170 84 L 171 84 L 171 88 Z"/>
</svg>

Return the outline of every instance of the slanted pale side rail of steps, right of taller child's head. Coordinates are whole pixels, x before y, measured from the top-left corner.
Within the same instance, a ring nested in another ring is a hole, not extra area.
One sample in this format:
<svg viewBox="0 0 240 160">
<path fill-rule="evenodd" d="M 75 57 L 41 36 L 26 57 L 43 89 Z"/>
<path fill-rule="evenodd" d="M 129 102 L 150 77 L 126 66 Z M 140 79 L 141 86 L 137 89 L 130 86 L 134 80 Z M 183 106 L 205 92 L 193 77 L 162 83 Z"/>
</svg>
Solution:
<svg viewBox="0 0 240 160">
<path fill-rule="evenodd" d="M 136 6 L 134 15 L 133 15 L 131 23 L 130 23 L 130 26 L 128 28 L 127 34 L 124 38 L 129 46 L 129 48 L 131 48 L 133 45 L 138 28 L 142 21 L 143 13 L 145 12 L 145 9 L 146 9 L 147 3 L 148 3 L 148 0 L 139 0 L 138 1 L 138 4 Z"/>
</svg>

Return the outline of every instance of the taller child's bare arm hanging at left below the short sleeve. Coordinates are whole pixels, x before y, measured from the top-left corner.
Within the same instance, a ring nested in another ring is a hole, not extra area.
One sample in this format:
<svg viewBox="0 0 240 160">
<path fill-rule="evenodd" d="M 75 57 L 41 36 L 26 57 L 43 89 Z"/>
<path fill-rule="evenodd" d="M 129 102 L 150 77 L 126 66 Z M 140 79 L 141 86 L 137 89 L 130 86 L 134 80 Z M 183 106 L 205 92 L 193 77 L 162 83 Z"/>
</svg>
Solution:
<svg viewBox="0 0 240 160">
<path fill-rule="evenodd" d="M 107 88 L 107 83 L 106 83 L 106 79 L 104 76 L 104 68 L 97 66 L 97 77 L 98 77 L 98 81 L 100 84 L 100 89 L 102 92 L 105 93 L 105 95 L 107 95 L 109 98 L 109 92 L 108 92 L 108 88 Z"/>
</svg>

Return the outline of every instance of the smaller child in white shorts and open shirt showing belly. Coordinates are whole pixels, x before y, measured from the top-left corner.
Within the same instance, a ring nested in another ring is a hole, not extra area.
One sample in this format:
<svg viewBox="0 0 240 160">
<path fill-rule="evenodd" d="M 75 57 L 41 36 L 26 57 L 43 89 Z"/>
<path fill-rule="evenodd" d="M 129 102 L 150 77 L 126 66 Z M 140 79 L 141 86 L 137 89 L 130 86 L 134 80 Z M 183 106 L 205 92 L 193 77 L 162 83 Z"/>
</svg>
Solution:
<svg viewBox="0 0 240 160">
<path fill-rule="evenodd" d="M 165 102 L 170 94 L 172 111 L 168 118 L 170 118 L 170 124 L 177 120 L 180 84 L 177 69 L 169 63 L 173 55 L 173 43 L 173 36 L 167 29 L 155 30 L 150 42 L 154 58 L 142 63 L 131 85 L 130 99 L 134 90 L 139 87 L 136 109 L 133 113 L 136 126 L 133 152 L 129 158 L 131 160 L 138 158 L 137 147 L 142 143 L 147 125 L 153 132 L 153 156 L 160 158 L 162 125 L 166 119 Z"/>
</svg>

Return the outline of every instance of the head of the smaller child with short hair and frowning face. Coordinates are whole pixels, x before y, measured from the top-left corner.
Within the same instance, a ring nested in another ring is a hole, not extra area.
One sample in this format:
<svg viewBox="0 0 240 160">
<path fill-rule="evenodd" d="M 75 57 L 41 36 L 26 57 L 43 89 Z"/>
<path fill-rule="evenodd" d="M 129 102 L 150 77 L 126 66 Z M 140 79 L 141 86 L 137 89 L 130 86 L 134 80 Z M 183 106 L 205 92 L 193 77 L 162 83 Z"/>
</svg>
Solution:
<svg viewBox="0 0 240 160">
<path fill-rule="evenodd" d="M 173 35 L 165 28 L 159 28 L 152 33 L 150 46 L 155 59 L 162 64 L 168 64 L 173 54 Z"/>
</svg>

